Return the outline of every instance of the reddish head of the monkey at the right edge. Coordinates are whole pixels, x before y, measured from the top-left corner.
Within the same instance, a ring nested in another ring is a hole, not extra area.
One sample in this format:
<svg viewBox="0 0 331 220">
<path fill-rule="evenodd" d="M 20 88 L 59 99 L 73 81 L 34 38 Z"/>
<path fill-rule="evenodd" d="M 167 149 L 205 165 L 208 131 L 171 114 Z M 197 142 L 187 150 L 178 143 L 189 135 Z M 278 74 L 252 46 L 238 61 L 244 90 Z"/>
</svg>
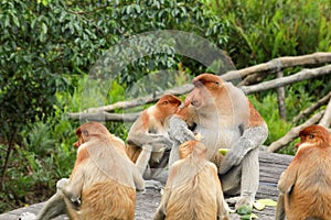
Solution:
<svg viewBox="0 0 331 220">
<path fill-rule="evenodd" d="M 310 125 L 300 131 L 300 143 L 296 144 L 297 147 L 305 145 L 314 146 L 330 146 L 331 139 L 329 131 L 321 125 Z"/>
</svg>

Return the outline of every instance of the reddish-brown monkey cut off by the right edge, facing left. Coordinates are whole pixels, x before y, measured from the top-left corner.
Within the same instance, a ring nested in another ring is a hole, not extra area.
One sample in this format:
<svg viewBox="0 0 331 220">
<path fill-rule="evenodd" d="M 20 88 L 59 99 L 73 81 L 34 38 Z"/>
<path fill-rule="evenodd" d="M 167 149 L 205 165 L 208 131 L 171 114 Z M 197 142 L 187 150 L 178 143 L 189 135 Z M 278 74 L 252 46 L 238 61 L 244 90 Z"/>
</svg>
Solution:
<svg viewBox="0 0 331 220">
<path fill-rule="evenodd" d="M 321 125 L 300 131 L 298 151 L 278 182 L 276 220 L 331 218 L 331 139 Z"/>
</svg>

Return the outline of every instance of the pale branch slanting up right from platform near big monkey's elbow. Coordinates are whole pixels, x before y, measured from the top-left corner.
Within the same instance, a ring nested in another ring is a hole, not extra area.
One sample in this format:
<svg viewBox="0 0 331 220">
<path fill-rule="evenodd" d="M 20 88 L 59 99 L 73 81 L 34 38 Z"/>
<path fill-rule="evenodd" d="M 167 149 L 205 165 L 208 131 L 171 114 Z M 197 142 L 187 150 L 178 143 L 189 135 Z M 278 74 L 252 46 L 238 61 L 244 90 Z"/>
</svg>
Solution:
<svg viewBox="0 0 331 220">
<path fill-rule="evenodd" d="M 298 138 L 299 132 L 303 128 L 318 123 L 321 120 L 321 118 L 323 117 L 324 112 L 325 112 L 324 110 L 320 111 L 319 113 L 314 114 L 312 118 L 310 118 L 305 123 L 302 123 L 302 124 L 300 124 L 300 125 L 298 125 L 296 128 L 292 128 L 285 136 L 282 136 L 279 140 L 273 142 L 268 146 L 268 152 L 277 152 L 281 147 L 284 147 L 287 144 L 289 144 L 291 141 L 293 141 L 296 138 Z"/>
</svg>

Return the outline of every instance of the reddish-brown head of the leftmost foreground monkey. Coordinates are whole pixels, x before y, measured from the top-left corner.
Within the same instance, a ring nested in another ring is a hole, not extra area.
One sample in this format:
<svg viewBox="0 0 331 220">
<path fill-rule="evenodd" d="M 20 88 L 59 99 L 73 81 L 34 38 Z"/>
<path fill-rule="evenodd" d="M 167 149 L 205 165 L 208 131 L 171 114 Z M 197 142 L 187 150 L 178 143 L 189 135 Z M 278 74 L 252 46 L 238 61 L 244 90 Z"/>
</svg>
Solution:
<svg viewBox="0 0 331 220">
<path fill-rule="evenodd" d="M 85 142 L 88 142 L 95 136 L 109 136 L 110 133 L 106 127 L 98 122 L 87 122 L 76 130 L 78 141 L 74 143 L 75 147 L 79 147 Z"/>
</svg>

